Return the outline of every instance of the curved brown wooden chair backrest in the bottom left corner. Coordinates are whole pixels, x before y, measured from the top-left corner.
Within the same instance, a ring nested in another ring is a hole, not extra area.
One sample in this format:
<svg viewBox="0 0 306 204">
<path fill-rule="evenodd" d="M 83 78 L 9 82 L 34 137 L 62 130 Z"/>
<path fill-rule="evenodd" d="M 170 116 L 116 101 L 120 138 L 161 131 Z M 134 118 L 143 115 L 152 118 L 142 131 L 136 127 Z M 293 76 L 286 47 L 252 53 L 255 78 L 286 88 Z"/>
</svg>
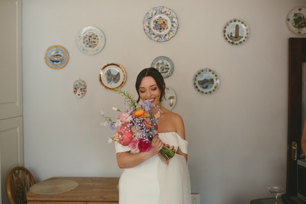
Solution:
<svg viewBox="0 0 306 204">
<path fill-rule="evenodd" d="M 35 179 L 28 169 L 17 166 L 10 170 L 6 187 L 11 204 L 26 204 L 27 192 L 34 184 Z"/>
</svg>

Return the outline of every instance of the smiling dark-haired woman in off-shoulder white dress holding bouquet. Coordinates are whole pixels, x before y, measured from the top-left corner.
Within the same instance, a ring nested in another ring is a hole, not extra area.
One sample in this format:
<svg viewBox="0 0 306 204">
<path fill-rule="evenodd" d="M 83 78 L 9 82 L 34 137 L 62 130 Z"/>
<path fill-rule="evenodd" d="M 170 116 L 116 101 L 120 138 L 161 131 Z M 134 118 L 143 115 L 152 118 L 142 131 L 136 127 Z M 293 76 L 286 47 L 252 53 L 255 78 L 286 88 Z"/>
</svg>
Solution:
<svg viewBox="0 0 306 204">
<path fill-rule="evenodd" d="M 149 151 L 132 154 L 128 146 L 115 143 L 118 166 L 124 169 L 119 181 L 119 203 L 189 204 L 188 142 L 183 119 L 161 105 L 165 82 L 156 68 L 146 68 L 138 74 L 136 90 L 138 102 L 149 99 L 162 113 L 158 134 L 152 139 Z M 169 161 L 159 153 L 164 144 L 176 150 Z"/>
</svg>

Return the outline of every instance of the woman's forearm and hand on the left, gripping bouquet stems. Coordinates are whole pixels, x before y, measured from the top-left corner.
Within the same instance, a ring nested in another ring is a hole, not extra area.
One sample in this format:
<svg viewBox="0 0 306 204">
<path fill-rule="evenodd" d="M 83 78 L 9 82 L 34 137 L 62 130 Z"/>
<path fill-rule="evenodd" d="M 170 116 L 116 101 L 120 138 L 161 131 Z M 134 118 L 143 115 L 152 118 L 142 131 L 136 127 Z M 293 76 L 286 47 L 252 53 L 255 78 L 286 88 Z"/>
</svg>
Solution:
<svg viewBox="0 0 306 204">
<path fill-rule="evenodd" d="M 118 152 L 117 155 L 117 163 L 119 168 L 132 168 L 135 167 L 142 162 L 148 160 L 154 155 L 158 154 L 160 151 L 160 147 L 162 147 L 163 142 L 159 139 L 158 135 L 156 135 L 151 141 L 151 149 L 149 151 L 139 152 L 138 154 L 131 154 L 129 152 Z"/>
</svg>

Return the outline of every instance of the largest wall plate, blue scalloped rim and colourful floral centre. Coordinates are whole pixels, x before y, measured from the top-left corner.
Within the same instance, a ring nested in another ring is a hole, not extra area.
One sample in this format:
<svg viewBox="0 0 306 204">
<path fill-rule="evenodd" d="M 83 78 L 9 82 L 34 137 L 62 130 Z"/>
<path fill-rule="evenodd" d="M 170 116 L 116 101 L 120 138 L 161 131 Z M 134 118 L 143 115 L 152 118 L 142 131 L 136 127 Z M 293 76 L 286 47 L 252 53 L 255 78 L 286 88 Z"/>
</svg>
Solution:
<svg viewBox="0 0 306 204">
<path fill-rule="evenodd" d="M 166 7 L 154 7 L 144 17 L 143 29 L 145 34 L 157 42 L 164 42 L 172 38 L 179 23 L 175 13 Z"/>
</svg>

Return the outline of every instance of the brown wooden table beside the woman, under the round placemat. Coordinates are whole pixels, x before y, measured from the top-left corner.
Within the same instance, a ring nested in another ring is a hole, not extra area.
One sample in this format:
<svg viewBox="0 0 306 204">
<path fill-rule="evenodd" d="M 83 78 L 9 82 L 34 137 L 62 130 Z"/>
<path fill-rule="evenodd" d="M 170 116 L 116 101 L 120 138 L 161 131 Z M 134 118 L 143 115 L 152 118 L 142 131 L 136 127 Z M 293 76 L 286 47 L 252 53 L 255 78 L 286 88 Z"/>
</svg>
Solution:
<svg viewBox="0 0 306 204">
<path fill-rule="evenodd" d="M 28 204 L 45 203 L 119 203 L 118 177 L 53 177 L 79 183 L 74 190 L 59 194 L 27 193 Z"/>
</svg>

